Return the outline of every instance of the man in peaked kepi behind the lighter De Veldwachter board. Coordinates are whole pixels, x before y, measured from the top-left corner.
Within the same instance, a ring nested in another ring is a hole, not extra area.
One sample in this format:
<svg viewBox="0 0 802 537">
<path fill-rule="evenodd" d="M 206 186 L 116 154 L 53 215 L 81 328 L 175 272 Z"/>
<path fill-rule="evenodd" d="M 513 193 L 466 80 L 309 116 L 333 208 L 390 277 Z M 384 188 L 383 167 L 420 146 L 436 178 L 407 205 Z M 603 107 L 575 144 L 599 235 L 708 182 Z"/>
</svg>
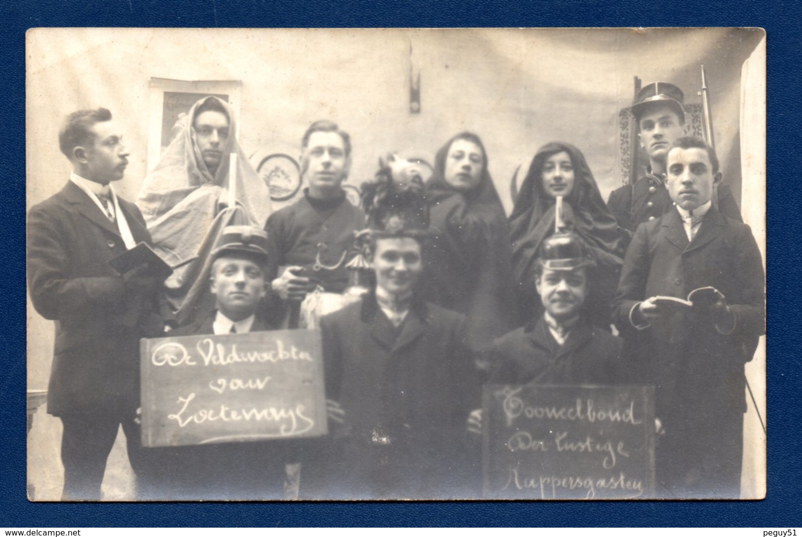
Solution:
<svg viewBox="0 0 802 537">
<path fill-rule="evenodd" d="M 265 298 L 267 236 L 249 226 L 224 228 L 212 252 L 215 309 L 170 336 L 273 329 L 257 313 Z M 286 442 L 232 442 L 146 450 L 141 499 L 284 499 Z"/>
</svg>

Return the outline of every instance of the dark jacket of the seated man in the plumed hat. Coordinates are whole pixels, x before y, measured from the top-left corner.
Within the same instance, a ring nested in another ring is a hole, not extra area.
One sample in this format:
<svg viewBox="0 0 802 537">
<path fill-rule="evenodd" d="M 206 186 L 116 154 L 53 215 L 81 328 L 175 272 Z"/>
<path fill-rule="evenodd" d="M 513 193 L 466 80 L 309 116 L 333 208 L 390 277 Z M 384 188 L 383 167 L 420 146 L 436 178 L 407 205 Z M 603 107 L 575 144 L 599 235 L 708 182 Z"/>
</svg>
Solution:
<svg viewBox="0 0 802 537">
<path fill-rule="evenodd" d="M 398 330 L 368 296 L 323 317 L 321 329 L 327 397 L 348 424 L 334 431 L 345 444 L 334 462 L 342 494 L 445 494 L 468 411 L 479 406 L 464 317 L 419 301 Z"/>
</svg>

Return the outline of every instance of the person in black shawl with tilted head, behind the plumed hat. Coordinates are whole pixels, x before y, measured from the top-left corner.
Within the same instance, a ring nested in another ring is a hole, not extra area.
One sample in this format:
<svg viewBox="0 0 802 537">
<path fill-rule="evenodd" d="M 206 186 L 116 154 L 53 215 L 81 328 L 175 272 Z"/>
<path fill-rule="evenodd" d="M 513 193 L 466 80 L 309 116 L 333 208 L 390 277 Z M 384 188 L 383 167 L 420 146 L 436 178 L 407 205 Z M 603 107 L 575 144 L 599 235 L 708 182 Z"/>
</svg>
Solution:
<svg viewBox="0 0 802 537">
<path fill-rule="evenodd" d="M 440 148 L 426 192 L 423 297 L 464 313 L 469 343 L 482 349 L 514 328 L 515 299 L 509 226 L 479 136 L 463 132 Z"/>
</svg>

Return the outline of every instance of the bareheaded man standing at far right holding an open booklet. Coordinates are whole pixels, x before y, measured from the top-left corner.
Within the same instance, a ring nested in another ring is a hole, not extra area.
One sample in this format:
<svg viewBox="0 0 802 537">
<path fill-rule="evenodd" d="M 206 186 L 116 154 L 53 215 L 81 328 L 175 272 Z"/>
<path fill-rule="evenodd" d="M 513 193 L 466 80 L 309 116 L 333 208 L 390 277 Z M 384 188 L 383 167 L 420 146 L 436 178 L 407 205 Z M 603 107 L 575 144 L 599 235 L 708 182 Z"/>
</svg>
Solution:
<svg viewBox="0 0 802 537">
<path fill-rule="evenodd" d="M 655 386 L 664 435 L 655 456 L 658 494 L 738 498 L 743 365 L 765 333 L 764 269 L 746 224 L 711 204 L 721 179 L 715 151 L 683 137 L 666 158 L 676 203 L 638 227 L 626 252 L 615 301 L 622 336 L 637 338 Z M 691 296 L 691 306 L 672 301 Z M 669 297 L 666 299 L 666 297 Z"/>
</svg>

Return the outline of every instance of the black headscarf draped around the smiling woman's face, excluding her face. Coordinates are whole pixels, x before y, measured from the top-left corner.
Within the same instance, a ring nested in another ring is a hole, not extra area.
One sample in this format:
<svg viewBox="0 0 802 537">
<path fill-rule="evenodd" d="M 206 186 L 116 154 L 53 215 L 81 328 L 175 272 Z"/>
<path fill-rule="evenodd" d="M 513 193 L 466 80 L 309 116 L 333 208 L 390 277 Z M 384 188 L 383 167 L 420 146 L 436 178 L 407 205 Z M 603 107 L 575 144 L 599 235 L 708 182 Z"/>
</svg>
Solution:
<svg viewBox="0 0 802 537">
<path fill-rule="evenodd" d="M 610 293 L 615 293 L 618 284 L 624 252 L 615 217 L 602 200 L 585 155 L 570 143 L 551 142 L 537 150 L 509 217 L 512 274 L 522 305 L 539 303 L 533 297 L 537 250 L 553 234 L 555 216 L 555 199 L 543 189 L 543 165 L 550 156 L 562 151 L 569 154 L 574 175 L 573 190 L 563 200 L 565 223 L 585 240 L 596 261 L 597 281 L 591 282 L 592 289 L 595 287 L 597 294 L 601 291 L 606 296 L 606 288 L 612 286 Z"/>
</svg>

